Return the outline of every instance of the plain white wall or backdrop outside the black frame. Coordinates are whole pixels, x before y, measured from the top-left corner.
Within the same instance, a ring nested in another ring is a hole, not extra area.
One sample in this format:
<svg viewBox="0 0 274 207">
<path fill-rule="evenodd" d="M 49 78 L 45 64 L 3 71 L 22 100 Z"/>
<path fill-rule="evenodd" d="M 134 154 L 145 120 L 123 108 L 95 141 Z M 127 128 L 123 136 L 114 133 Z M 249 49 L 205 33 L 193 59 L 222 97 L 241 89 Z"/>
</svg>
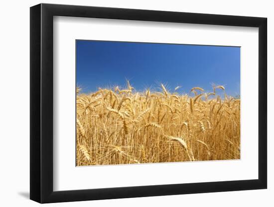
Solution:
<svg viewBox="0 0 274 207">
<path fill-rule="evenodd" d="M 269 106 L 274 104 L 274 79 L 271 71 L 274 13 L 270 0 L 44 0 L 48 3 L 82 4 L 110 7 L 143 8 L 155 10 L 185 11 L 268 17 L 268 68 Z M 37 0 L 4 1 L 0 12 L 0 57 L 1 75 L 0 101 L 1 149 L 0 149 L 0 195 L 1 206 L 38 206 L 28 200 L 29 195 L 29 6 L 40 3 Z M 269 107 L 269 128 L 274 124 L 274 110 Z M 50 204 L 47 206 L 167 206 L 191 205 L 210 207 L 231 206 L 273 206 L 274 194 L 274 133 L 269 131 L 269 189 L 242 192 L 193 194 L 151 198 L 119 199 L 77 203 Z"/>
</svg>

